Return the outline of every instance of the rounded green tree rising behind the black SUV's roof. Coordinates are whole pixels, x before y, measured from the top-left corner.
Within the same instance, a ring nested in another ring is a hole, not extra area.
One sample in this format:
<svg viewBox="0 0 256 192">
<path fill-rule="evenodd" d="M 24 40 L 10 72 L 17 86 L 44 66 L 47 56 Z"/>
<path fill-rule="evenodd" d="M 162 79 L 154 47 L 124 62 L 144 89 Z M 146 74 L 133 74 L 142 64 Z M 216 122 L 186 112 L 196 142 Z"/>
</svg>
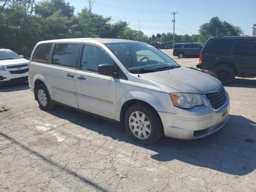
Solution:
<svg viewBox="0 0 256 192">
<path fill-rule="evenodd" d="M 209 37 L 215 36 L 215 30 L 218 28 L 218 34 L 224 36 L 241 36 L 244 35 L 242 29 L 226 21 L 221 21 L 218 17 L 213 17 L 208 23 L 204 23 L 199 28 L 200 40 L 206 41 Z"/>
</svg>

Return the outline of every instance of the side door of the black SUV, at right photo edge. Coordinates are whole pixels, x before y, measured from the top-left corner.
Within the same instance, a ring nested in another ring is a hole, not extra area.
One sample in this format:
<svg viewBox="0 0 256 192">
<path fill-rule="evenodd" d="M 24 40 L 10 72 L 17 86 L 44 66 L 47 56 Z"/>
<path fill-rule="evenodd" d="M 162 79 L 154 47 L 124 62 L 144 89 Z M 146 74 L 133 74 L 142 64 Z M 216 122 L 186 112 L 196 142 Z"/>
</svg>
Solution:
<svg viewBox="0 0 256 192">
<path fill-rule="evenodd" d="M 238 59 L 239 73 L 256 74 L 256 39 L 236 40 L 233 56 Z"/>
</svg>

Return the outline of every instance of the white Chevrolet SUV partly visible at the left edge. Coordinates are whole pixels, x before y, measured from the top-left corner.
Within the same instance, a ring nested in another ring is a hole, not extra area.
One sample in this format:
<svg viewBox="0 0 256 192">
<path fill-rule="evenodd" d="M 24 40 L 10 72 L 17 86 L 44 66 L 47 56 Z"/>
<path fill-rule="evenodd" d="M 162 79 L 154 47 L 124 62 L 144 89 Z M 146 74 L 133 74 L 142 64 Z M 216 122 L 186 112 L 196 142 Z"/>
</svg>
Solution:
<svg viewBox="0 0 256 192">
<path fill-rule="evenodd" d="M 28 80 L 28 60 L 10 49 L 0 48 L 0 84 Z"/>
</svg>

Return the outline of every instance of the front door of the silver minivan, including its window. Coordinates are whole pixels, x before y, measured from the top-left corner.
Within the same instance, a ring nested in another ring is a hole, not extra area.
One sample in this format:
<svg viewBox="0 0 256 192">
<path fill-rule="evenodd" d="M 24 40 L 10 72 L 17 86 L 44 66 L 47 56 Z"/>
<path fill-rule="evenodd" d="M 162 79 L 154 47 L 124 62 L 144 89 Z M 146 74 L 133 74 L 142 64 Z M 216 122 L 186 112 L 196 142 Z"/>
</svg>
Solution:
<svg viewBox="0 0 256 192">
<path fill-rule="evenodd" d="M 98 65 L 114 61 L 99 46 L 84 44 L 79 69 L 76 71 L 76 92 L 79 109 L 116 119 L 116 78 L 98 73 Z"/>
</svg>

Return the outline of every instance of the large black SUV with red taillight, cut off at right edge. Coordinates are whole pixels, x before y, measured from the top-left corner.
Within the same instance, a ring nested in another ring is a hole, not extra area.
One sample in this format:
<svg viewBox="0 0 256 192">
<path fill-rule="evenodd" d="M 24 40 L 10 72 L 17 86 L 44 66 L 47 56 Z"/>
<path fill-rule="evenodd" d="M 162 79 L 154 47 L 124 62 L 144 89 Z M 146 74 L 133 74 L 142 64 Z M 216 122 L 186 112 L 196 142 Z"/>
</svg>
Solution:
<svg viewBox="0 0 256 192">
<path fill-rule="evenodd" d="M 216 72 L 222 84 L 234 78 L 256 77 L 256 37 L 211 37 L 196 67 Z"/>
</svg>

